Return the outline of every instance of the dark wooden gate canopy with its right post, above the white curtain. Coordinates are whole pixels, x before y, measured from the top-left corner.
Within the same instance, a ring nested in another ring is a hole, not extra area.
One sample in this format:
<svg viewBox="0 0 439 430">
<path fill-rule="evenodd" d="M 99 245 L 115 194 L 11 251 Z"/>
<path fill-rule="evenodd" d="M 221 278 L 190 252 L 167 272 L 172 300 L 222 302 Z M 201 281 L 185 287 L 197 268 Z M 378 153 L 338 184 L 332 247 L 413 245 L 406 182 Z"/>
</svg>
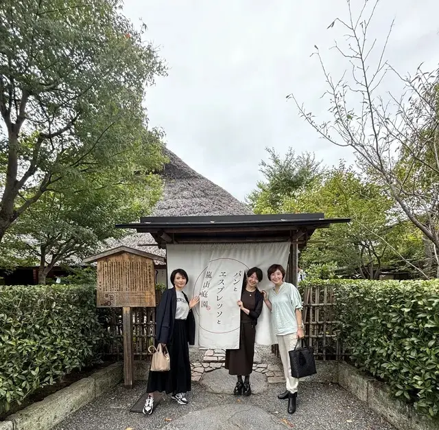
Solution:
<svg viewBox="0 0 439 430">
<path fill-rule="evenodd" d="M 350 218 L 324 218 L 324 214 L 270 214 L 233 216 L 150 216 L 140 223 L 121 224 L 122 229 L 150 233 L 158 247 L 168 243 L 230 243 L 291 241 L 288 280 L 297 285 L 298 249 L 307 245 L 316 229 Z"/>
</svg>

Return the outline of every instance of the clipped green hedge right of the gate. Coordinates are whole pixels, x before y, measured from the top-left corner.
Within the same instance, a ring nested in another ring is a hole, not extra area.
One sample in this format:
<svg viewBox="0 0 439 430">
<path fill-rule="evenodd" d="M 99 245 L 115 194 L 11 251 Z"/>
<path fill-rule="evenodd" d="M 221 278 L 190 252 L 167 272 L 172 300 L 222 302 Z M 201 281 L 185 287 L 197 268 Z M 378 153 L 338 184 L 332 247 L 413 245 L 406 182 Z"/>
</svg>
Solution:
<svg viewBox="0 0 439 430">
<path fill-rule="evenodd" d="M 439 418 L 439 280 L 313 284 L 335 287 L 340 334 L 355 365 Z"/>
</svg>

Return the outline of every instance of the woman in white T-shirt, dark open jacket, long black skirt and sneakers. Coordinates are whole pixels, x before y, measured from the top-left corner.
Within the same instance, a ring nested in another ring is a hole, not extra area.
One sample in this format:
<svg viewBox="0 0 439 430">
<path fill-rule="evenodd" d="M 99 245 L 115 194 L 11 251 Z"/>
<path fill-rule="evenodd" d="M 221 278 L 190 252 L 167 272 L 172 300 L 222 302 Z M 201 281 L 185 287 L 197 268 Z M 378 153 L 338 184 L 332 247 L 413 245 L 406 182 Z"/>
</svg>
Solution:
<svg viewBox="0 0 439 430">
<path fill-rule="evenodd" d="M 186 393 L 191 391 L 191 363 L 189 343 L 195 343 L 195 318 L 192 308 L 200 301 L 193 297 L 189 302 L 183 288 L 189 278 L 183 269 L 171 273 L 174 288 L 167 289 L 161 298 L 156 313 L 156 343 L 167 346 L 171 370 L 152 372 L 148 376 L 149 393 L 143 414 L 150 415 L 154 409 L 154 392 L 166 392 L 179 405 L 187 405 Z"/>
</svg>

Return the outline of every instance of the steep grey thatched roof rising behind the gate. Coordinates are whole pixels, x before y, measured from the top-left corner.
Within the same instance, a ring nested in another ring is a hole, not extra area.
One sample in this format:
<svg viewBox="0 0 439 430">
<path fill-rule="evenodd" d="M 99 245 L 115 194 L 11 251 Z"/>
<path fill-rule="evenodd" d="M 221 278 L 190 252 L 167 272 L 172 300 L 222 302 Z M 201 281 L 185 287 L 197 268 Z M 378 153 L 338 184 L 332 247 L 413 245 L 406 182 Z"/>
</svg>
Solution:
<svg viewBox="0 0 439 430">
<path fill-rule="evenodd" d="M 190 168 L 174 152 L 165 149 L 169 163 L 161 174 L 163 196 L 152 216 L 249 215 L 252 211 L 229 192 Z M 146 214 L 145 214 L 146 215 Z M 127 246 L 165 256 L 150 234 L 135 233 L 121 240 L 107 240 L 108 247 Z M 141 247 L 142 244 L 151 244 Z"/>
</svg>

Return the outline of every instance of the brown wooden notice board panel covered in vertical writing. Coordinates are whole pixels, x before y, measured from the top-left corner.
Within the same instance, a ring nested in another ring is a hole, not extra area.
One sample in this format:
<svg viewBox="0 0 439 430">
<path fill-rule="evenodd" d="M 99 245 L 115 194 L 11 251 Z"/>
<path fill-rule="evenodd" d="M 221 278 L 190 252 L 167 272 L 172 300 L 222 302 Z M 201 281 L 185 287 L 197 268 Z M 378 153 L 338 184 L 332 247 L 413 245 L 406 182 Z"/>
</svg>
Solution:
<svg viewBox="0 0 439 430">
<path fill-rule="evenodd" d="M 156 306 L 154 261 L 122 252 L 97 260 L 98 308 Z"/>
</svg>

